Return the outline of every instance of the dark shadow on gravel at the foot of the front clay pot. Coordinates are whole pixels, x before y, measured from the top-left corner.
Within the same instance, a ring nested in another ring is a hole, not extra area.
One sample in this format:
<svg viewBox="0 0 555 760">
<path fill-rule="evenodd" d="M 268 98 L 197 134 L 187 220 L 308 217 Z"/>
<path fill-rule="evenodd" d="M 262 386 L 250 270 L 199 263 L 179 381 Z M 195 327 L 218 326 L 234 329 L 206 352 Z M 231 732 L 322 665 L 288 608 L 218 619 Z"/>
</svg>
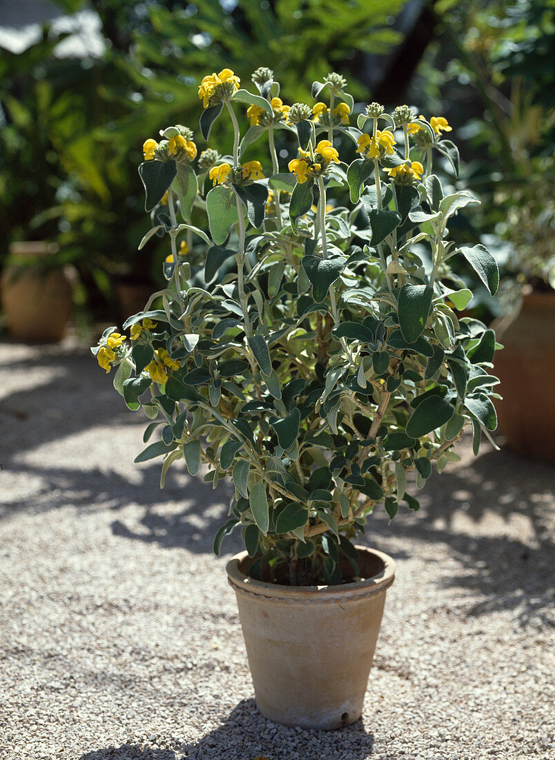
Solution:
<svg viewBox="0 0 555 760">
<path fill-rule="evenodd" d="M 295 756 L 303 760 L 364 760 L 371 755 L 373 747 L 374 734 L 367 733 L 361 720 L 339 731 L 288 728 L 266 720 L 257 711 L 254 699 L 244 699 L 221 726 L 196 742 L 185 744 L 184 750 L 191 760 L 206 757 L 247 760 L 257 755 L 268 758 Z"/>
</svg>

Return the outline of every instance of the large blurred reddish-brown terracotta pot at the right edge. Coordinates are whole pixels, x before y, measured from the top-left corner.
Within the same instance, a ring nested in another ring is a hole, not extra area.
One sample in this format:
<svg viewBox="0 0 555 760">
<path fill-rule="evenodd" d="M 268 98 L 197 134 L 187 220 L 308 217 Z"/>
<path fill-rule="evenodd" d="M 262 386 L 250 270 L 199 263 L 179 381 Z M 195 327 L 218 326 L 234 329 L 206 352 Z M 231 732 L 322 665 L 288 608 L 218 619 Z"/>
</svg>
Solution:
<svg viewBox="0 0 555 760">
<path fill-rule="evenodd" d="M 533 291 L 498 340 L 494 374 L 500 432 L 519 454 L 555 462 L 555 293 Z"/>
</svg>

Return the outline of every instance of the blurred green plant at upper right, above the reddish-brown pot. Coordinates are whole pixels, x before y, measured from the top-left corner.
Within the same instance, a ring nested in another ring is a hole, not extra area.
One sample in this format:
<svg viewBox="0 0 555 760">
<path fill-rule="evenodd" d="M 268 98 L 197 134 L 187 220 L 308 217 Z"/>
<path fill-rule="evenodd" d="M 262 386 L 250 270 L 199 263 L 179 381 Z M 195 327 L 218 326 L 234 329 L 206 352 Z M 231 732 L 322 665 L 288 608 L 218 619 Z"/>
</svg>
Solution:
<svg viewBox="0 0 555 760">
<path fill-rule="evenodd" d="M 463 125 L 468 184 L 484 199 L 466 223 L 477 239 L 495 230 L 497 240 L 486 242 L 512 290 L 527 281 L 553 287 L 555 3 L 443 0 L 434 11 L 443 36 L 427 53 L 420 82 L 437 109 Z M 430 77 L 433 70 L 441 73 Z"/>
</svg>

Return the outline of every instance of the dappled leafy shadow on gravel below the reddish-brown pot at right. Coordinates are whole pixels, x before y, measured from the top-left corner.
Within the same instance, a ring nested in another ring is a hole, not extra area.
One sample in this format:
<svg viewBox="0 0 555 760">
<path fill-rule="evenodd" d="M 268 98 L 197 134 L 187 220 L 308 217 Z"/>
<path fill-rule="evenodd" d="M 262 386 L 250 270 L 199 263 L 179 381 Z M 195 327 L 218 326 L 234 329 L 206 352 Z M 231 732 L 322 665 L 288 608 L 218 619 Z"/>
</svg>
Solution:
<svg viewBox="0 0 555 760">
<path fill-rule="evenodd" d="M 522 459 L 505 448 L 490 451 L 467 467 L 434 474 L 421 511 L 406 518 L 399 515 L 391 530 L 387 519 L 377 515 L 376 533 L 448 545 L 460 571 L 441 582 L 484 597 L 468 606 L 467 616 L 513 610 L 522 626 L 555 625 L 553 483 L 555 468 L 550 464 Z M 522 515 L 531 524 L 533 538 L 462 532 L 455 527 L 457 513 L 476 524 L 491 513 L 505 522 Z"/>
</svg>

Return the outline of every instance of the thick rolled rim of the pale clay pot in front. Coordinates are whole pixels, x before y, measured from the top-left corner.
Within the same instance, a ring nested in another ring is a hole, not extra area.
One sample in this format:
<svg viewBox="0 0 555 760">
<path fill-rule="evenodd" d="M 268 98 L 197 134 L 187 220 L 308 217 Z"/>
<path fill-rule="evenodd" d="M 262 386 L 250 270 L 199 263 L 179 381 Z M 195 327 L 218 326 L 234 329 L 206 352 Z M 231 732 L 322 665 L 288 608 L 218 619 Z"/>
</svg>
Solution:
<svg viewBox="0 0 555 760">
<path fill-rule="evenodd" d="M 246 551 L 239 552 L 232 556 L 225 570 L 228 574 L 229 584 L 234 587 L 238 593 L 249 594 L 257 597 L 266 597 L 268 599 L 285 599 L 292 602 L 303 602 L 318 600 L 320 602 L 335 602 L 339 599 L 358 599 L 360 597 L 374 596 L 374 594 L 385 593 L 386 589 L 393 584 L 395 577 L 395 561 L 386 553 L 378 549 L 371 549 L 369 546 L 357 545 L 356 548 L 361 553 L 372 554 L 377 556 L 383 562 L 383 569 L 373 575 L 371 578 L 364 578 L 362 581 L 354 583 L 336 584 L 333 586 L 285 586 L 276 583 L 266 583 L 265 581 L 256 581 L 249 578 L 239 568 L 240 562 L 248 558 Z"/>
</svg>

